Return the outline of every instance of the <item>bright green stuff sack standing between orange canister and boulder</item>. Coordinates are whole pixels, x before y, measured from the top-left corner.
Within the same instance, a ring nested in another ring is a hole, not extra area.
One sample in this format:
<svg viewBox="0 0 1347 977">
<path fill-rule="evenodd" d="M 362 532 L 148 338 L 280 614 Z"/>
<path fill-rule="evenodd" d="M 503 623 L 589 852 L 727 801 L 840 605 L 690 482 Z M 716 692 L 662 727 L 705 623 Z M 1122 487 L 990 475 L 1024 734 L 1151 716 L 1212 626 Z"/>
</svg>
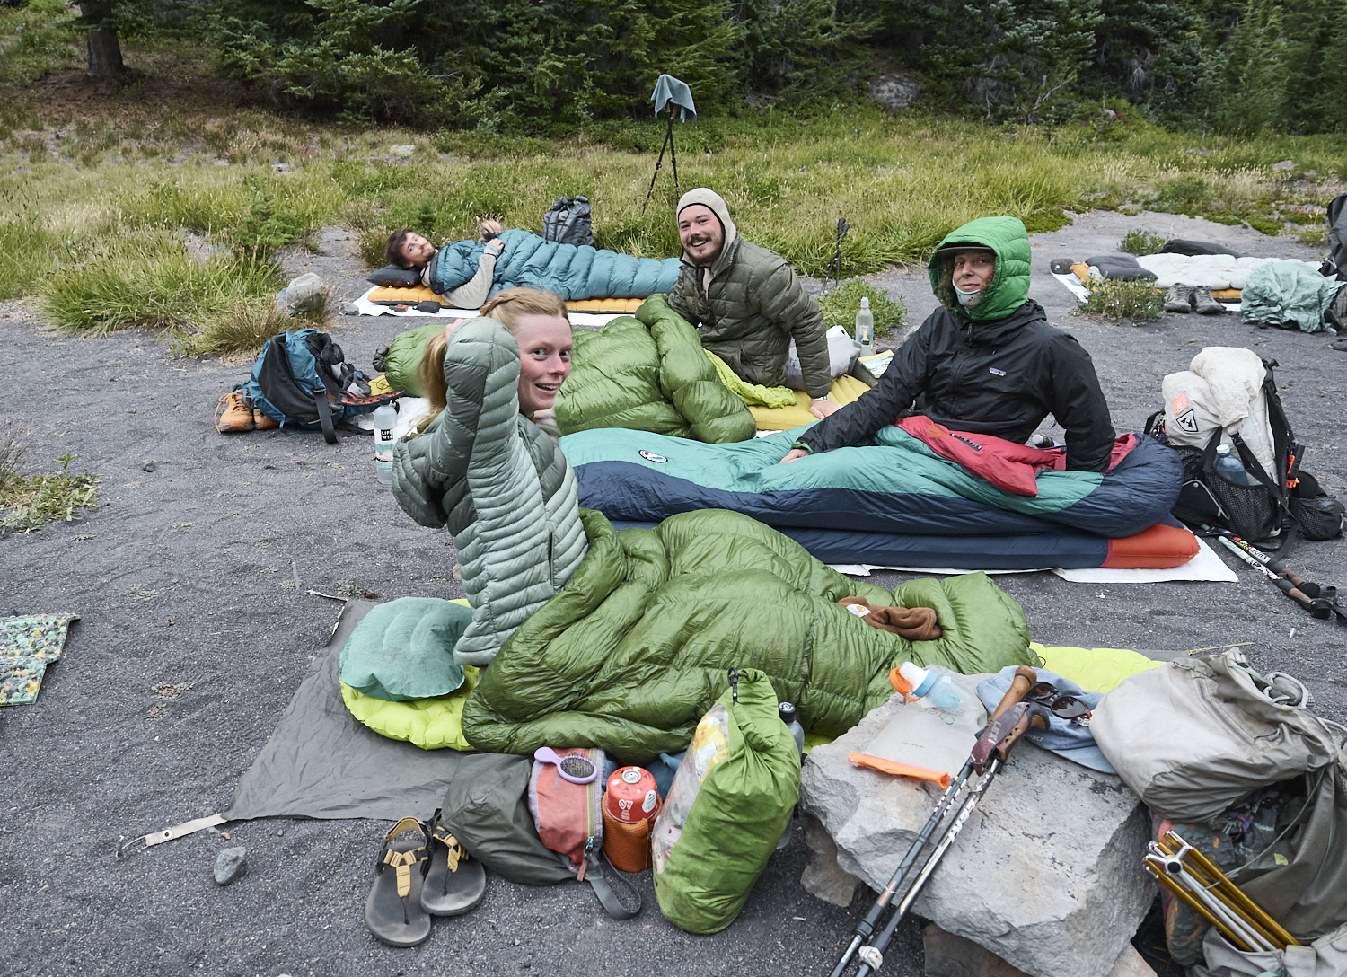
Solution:
<svg viewBox="0 0 1347 977">
<path fill-rule="evenodd" d="M 698 724 L 651 837 L 660 912 L 688 933 L 734 922 L 800 799 L 800 751 L 772 683 L 757 668 L 734 675 Z"/>
</svg>

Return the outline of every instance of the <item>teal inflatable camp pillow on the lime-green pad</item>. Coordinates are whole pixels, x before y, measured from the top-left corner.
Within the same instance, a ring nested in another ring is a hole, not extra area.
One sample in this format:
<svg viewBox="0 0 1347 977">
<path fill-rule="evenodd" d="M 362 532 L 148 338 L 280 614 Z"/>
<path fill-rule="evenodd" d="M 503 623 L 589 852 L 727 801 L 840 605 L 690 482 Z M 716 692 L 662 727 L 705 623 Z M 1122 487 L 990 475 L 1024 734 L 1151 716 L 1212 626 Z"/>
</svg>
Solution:
<svg viewBox="0 0 1347 977">
<path fill-rule="evenodd" d="M 342 685 L 389 702 L 447 695 L 463 685 L 454 645 L 471 620 L 470 609 L 438 597 L 380 604 L 341 650 Z"/>
</svg>

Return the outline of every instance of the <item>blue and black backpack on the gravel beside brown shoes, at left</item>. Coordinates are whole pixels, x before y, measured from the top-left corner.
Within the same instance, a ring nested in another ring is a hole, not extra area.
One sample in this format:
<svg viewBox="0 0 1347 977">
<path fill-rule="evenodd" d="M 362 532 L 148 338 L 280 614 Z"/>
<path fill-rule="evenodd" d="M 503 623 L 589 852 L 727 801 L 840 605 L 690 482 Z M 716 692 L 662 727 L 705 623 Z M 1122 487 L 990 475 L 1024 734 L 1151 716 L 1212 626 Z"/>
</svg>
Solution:
<svg viewBox="0 0 1347 977">
<path fill-rule="evenodd" d="M 277 333 L 267 340 L 242 389 L 282 427 L 322 430 L 329 445 L 337 443 L 335 424 L 395 396 L 370 396 L 365 375 L 345 361 L 341 346 L 327 333 L 317 329 Z"/>
</svg>

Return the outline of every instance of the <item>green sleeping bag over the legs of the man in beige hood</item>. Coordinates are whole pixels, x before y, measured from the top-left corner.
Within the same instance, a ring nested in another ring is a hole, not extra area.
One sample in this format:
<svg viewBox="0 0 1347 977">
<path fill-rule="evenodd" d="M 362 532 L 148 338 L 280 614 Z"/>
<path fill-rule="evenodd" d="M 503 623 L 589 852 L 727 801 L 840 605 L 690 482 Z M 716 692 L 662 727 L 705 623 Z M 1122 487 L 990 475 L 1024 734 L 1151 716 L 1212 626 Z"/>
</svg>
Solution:
<svg viewBox="0 0 1347 977">
<path fill-rule="evenodd" d="M 563 434 L 626 427 L 718 445 L 748 441 L 753 415 L 715 372 L 692 329 L 652 295 L 602 329 L 578 329 L 556 396 Z"/>
</svg>

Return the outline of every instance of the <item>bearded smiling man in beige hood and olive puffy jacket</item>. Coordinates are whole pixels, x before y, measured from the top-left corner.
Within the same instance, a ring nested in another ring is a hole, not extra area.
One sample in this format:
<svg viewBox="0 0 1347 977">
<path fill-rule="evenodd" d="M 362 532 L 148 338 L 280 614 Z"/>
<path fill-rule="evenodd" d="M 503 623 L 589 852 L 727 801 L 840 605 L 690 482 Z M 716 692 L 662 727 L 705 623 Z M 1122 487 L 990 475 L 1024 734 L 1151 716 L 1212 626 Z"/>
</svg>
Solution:
<svg viewBox="0 0 1347 977">
<path fill-rule="evenodd" d="M 669 307 L 698 327 L 702 345 L 749 383 L 780 387 L 795 340 L 810 410 L 826 418 L 828 402 L 827 326 L 780 255 L 740 237 L 718 193 L 698 187 L 678 202 L 683 268 L 667 296 Z"/>
</svg>

